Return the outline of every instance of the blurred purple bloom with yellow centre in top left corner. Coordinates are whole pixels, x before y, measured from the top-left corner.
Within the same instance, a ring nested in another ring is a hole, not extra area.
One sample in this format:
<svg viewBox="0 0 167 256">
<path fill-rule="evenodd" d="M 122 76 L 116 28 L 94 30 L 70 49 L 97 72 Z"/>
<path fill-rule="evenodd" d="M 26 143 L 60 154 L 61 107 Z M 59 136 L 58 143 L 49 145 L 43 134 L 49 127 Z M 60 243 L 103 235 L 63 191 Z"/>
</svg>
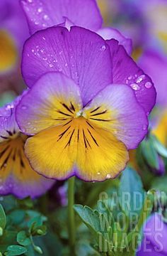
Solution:
<svg viewBox="0 0 167 256">
<path fill-rule="evenodd" d="M 0 76 L 18 69 L 28 26 L 17 0 L 0 3 Z"/>
</svg>

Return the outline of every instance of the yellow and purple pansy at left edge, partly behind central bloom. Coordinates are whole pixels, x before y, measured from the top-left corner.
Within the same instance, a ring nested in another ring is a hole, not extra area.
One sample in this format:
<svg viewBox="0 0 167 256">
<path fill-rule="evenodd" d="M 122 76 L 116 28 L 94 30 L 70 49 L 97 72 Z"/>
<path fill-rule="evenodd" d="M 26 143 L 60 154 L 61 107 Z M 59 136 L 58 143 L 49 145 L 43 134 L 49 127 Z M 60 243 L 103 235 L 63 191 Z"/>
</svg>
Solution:
<svg viewBox="0 0 167 256">
<path fill-rule="evenodd" d="M 37 174 L 24 152 L 28 138 L 16 124 L 16 102 L 0 110 L 0 194 L 12 193 L 18 198 L 40 196 L 54 181 Z"/>
</svg>

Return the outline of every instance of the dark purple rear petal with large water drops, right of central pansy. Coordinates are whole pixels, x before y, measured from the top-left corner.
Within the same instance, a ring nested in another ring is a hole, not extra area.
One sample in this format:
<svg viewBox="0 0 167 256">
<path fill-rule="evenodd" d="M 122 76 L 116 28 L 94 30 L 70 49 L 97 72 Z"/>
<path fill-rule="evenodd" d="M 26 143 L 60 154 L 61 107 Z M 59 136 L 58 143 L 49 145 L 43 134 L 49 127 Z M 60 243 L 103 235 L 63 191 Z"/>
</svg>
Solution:
<svg viewBox="0 0 167 256">
<path fill-rule="evenodd" d="M 147 114 L 151 112 L 156 102 L 156 90 L 153 82 L 134 60 L 127 55 L 125 49 L 117 41 L 107 41 L 113 58 L 113 83 L 132 87 L 139 104 Z"/>
</svg>

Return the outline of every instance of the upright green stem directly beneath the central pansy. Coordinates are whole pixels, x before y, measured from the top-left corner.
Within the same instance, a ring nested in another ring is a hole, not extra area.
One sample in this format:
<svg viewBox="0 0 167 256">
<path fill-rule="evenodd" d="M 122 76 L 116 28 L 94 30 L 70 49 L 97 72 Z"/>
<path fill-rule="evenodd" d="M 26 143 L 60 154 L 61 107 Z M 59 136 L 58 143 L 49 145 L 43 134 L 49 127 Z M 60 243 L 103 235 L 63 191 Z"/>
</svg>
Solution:
<svg viewBox="0 0 167 256">
<path fill-rule="evenodd" d="M 71 255 L 75 255 L 75 219 L 74 219 L 74 183 L 75 177 L 68 181 L 68 228 L 69 228 L 69 246 Z"/>
</svg>

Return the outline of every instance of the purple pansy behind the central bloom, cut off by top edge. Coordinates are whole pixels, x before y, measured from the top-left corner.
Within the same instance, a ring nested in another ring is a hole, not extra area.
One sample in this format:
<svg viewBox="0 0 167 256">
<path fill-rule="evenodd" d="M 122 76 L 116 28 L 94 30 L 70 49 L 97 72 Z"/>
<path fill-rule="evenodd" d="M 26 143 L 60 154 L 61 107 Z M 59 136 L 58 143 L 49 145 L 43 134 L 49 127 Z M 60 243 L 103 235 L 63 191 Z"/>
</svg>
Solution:
<svg viewBox="0 0 167 256">
<path fill-rule="evenodd" d="M 132 40 L 125 38 L 115 28 L 102 28 L 103 18 L 96 0 L 21 0 L 25 16 L 28 20 L 30 33 L 51 26 L 81 26 L 98 33 L 105 40 L 117 39 L 125 47 L 127 53 L 132 53 Z"/>
</svg>

